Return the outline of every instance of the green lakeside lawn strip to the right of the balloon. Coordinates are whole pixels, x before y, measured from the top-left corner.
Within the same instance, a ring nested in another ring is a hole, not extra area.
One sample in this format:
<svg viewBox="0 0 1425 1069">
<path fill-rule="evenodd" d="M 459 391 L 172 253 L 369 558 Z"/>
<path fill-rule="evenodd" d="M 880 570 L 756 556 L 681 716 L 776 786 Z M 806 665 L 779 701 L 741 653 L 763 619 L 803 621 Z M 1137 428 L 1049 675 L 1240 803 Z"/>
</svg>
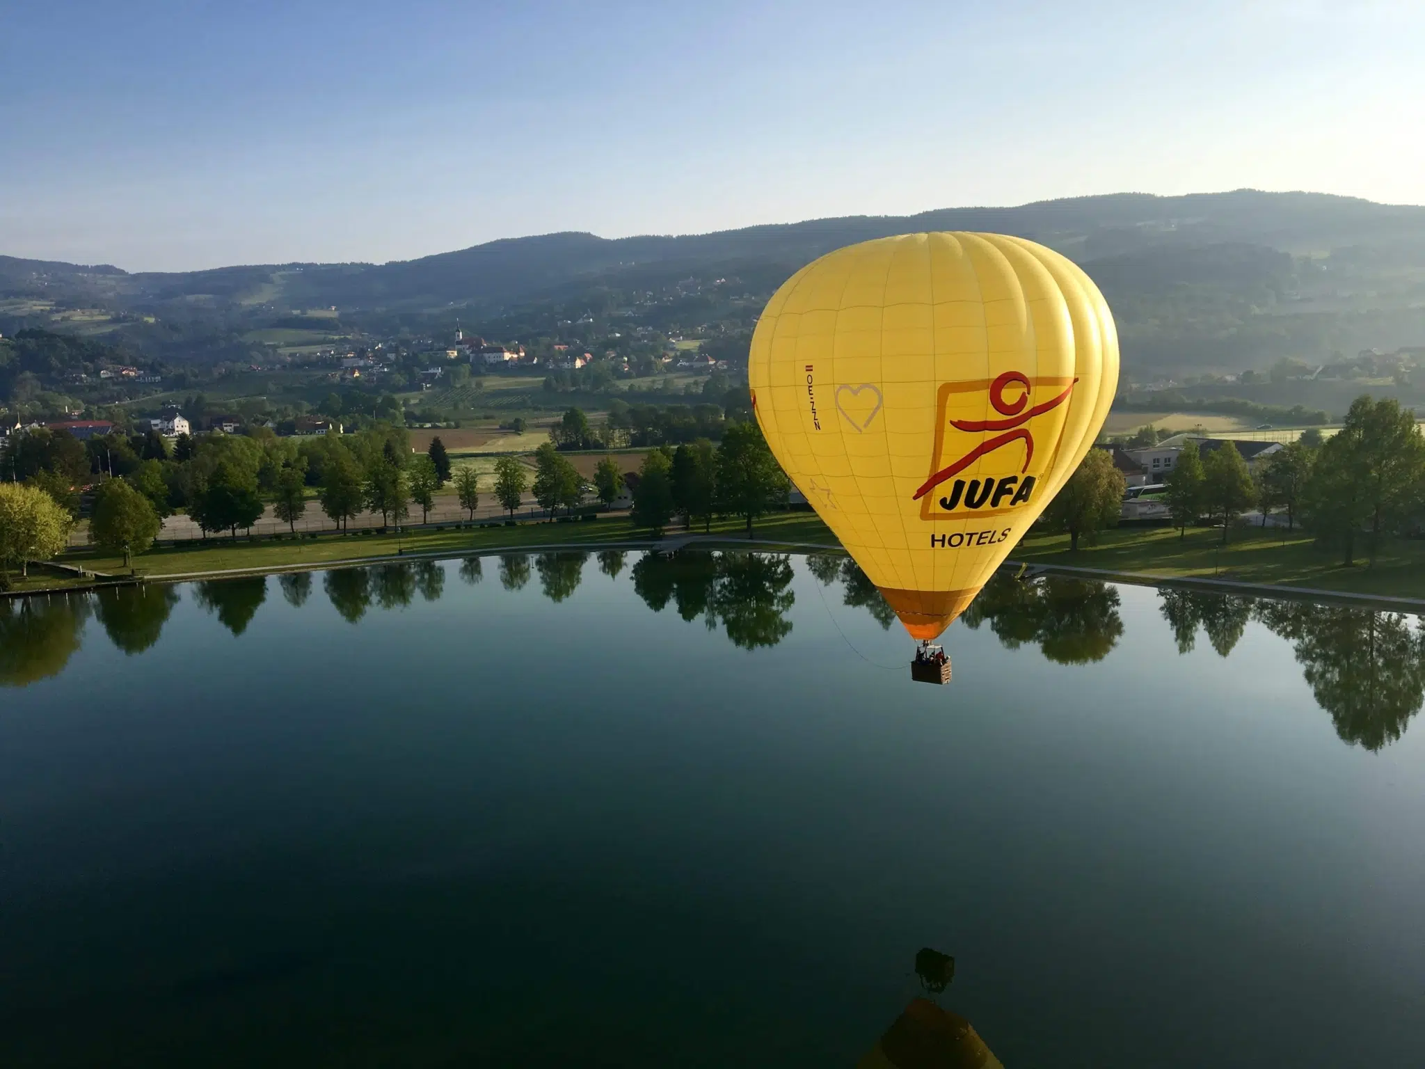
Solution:
<svg viewBox="0 0 1425 1069">
<path fill-rule="evenodd" d="M 1100 536 L 1097 546 L 1069 549 L 1067 534 L 1030 534 L 1013 560 L 1141 572 L 1163 577 L 1218 577 L 1244 583 L 1302 586 L 1342 593 L 1425 597 L 1425 542 L 1382 540 L 1375 566 L 1368 566 L 1367 540 L 1357 546 L 1354 567 L 1341 566 L 1335 550 L 1318 549 L 1310 534 L 1268 527 L 1191 529 L 1180 539 L 1168 527 L 1121 527 Z"/>
</svg>

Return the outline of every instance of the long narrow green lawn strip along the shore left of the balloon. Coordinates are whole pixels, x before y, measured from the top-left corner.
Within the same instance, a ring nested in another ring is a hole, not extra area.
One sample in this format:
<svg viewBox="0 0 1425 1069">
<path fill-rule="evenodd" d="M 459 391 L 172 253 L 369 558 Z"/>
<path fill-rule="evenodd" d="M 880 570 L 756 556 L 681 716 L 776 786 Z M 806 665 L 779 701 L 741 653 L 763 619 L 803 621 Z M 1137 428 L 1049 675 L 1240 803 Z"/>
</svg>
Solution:
<svg viewBox="0 0 1425 1069">
<path fill-rule="evenodd" d="M 685 534 L 681 527 L 671 527 L 665 539 Z M 701 534 L 701 529 L 693 533 Z M 727 534 L 728 540 L 741 539 L 744 527 L 735 520 L 721 520 L 712 525 L 714 534 Z M 758 539 L 785 539 L 788 542 L 812 542 L 835 547 L 836 540 L 826 526 L 811 513 L 788 512 L 768 516 L 755 525 Z M 600 517 L 591 523 L 520 523 L 514 527 L 475 527 L 465 530 L 420 530 L 402 536 L 395 534 L 322 534 L 316 539 L 284 539 L 275 542 L 264 537 L 259 542 L 247 539 L 215 537 L 197 540 L 181 547 L 162 547 L 134 557 L 134 566 L 141 574 L 172 576 L 190 572 L 225 572 L 229 569 L 301 567 L 322 564 L 331 560 L 355 557 L 395 556 L 398 549 L 406 553 L 479 553 L 499 546 L 530 546 L 554 543 L 589 543 L 644 540 L 648 532 L 634 527 L 627 517 Z M 66 553 L 66 564 L 78 564 L 94 572 L 123 572 L 123 559 L 103 554 L 97 550 L 76 550 Z"/>
</svg>

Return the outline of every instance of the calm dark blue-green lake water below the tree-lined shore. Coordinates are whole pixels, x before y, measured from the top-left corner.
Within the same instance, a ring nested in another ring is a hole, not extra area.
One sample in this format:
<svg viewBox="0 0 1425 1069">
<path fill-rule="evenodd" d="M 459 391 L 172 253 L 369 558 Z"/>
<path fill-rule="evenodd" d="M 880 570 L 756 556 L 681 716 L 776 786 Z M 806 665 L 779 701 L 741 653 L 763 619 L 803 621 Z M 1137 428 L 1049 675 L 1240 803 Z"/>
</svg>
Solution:
<svg viewBox="0 0 1425 1069">
<path fill-rule="evenodd" d="M 1419 1066 L 1414 617 L 831 557 L 0 600 L 0 1063 Z M 892 666 L 882 668 L 879 666 Z"/>
</svg>

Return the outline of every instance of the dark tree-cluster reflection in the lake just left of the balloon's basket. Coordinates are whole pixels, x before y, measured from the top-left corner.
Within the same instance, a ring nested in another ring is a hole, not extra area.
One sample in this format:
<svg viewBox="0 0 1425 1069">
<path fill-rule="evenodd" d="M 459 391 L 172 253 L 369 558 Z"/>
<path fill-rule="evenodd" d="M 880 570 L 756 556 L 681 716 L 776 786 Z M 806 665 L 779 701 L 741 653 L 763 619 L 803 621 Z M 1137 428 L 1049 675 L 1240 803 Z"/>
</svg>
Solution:
<svg viewBox="0 0 1425 1069">
<path fill-rule="evenodd" d="M 791 634 L 787 611 L 795 594 L 791 559 L 784 553 L 646 553 L 633 566 L 633 586 L 656 613 L 674 601 L 684 620 L 722 624 L 734 646 L 777 646 Z"/>
</svg>

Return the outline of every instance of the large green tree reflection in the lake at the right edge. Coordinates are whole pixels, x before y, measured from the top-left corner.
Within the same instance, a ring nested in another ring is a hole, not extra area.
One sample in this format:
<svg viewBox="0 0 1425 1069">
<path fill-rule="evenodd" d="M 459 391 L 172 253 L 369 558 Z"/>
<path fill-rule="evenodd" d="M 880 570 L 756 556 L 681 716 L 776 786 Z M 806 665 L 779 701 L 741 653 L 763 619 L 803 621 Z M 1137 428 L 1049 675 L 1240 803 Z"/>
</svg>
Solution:
<svg viewBox="0 0 1425 1069">
<path fill-rule="evenodd" d="M 1263 601 L 1257 619 L 1290 641 L 1342 741 L 1381 750 L 1425 700 L 1425 633 L 1401 613 Z"/>
</svg>

